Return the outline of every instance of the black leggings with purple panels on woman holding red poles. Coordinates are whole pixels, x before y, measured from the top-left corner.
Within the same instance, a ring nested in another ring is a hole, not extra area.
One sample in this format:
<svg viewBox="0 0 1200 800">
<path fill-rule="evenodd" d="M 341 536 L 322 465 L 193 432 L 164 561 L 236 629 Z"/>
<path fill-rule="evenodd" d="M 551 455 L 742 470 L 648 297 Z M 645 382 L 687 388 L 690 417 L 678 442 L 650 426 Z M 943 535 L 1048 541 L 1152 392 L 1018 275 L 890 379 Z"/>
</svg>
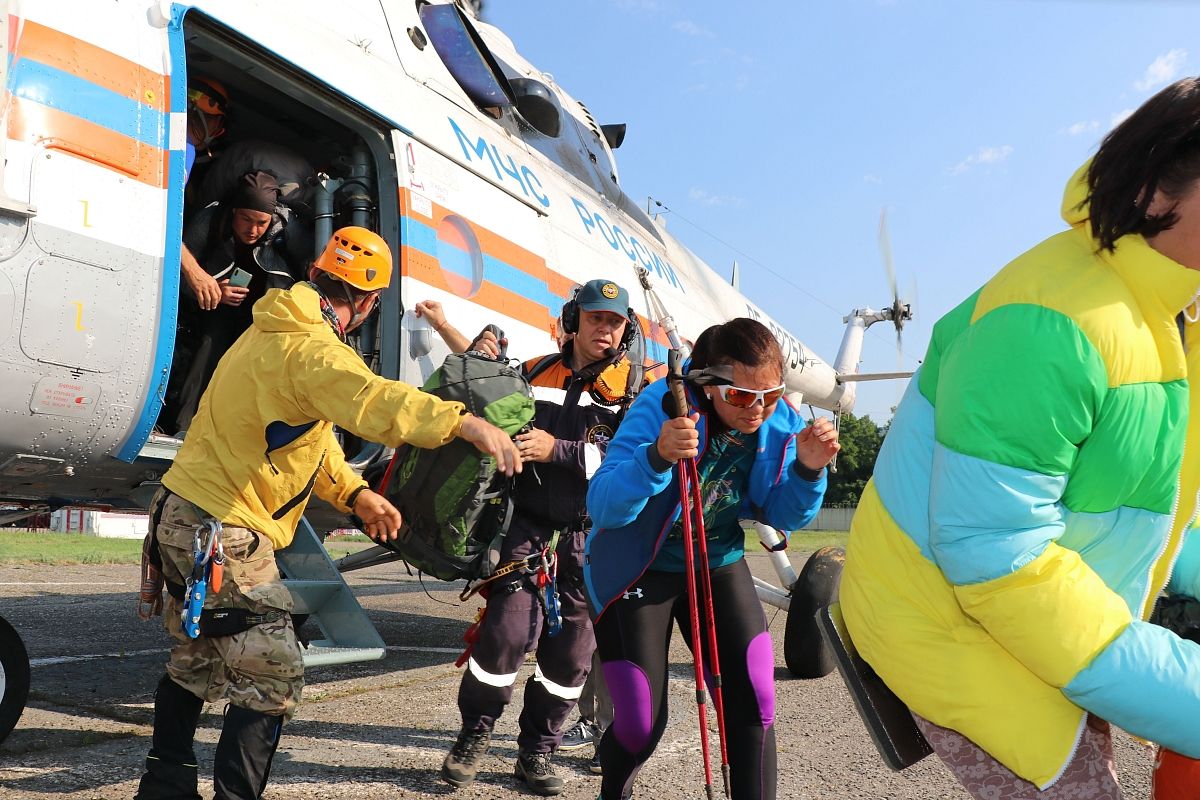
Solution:
<svg viewBox="0 0 1200 800">
<path fill-rule="evenodd" d="M 733 800 L 774 800 L 775 656 L 767 619 L 745 560 L 713 570 L 712 581 Z M 684 640 L 692 648 L 684 575 L 649 571 L 595 624 L 596 646 L 613 703 L 613 722 L 598 750 L 605 800 L 632 794 L 638 770 L 666 729 L 672 621 L 679 624 Z M 707 642 L 703 649 L 707 651 Z M 708 680 L 707 658 L 704 667 Z M 715 735 L 709 738 L 709 745 L 714 781 L 719 782 L 720 747 Z"/>
</svg>

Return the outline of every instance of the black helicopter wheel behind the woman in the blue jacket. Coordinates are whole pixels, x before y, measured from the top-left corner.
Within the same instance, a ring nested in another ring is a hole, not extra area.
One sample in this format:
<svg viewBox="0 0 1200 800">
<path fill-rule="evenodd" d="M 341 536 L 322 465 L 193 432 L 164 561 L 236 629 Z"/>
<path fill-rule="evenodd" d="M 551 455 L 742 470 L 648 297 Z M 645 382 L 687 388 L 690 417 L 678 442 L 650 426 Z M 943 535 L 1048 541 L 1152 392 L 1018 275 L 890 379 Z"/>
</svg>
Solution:
<svg viewBox="0 0 1200 800">
<path fill-rule="evenodd" d="M 821 638 L 816 612 L 838 600 L 846 551 L 822 547 L 809 557 L 792 587 L 792 603 L 784 628 L 784 661 L 793 678 L 823 678 L 834 670 L 833 651 Z"/>
</svg>

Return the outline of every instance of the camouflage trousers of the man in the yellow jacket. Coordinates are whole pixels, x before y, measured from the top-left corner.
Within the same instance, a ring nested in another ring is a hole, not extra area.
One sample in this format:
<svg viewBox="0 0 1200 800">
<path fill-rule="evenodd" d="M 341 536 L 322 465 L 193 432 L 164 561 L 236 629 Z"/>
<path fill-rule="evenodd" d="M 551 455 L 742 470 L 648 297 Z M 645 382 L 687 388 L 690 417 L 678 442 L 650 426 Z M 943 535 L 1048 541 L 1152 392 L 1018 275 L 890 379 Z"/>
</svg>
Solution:
<svg viewBox="0 0 1200 800">
<path fill-rule="evenodd" d="M 192 547 L 202 515 L 187 500 L 161 491 L 150 504 L 151 518 L 160 504 L 162 511 L 152 533 L 157 535 L 163 576 L 170 583 L 185 584 L 194 563 Z M 280 581 L 271 541 L 248 528 L 226 525 L 222 542 L 224 579 L 218 593 L 209 591 L 204 607 L 245 608 L 252 614 L 290 610 L 292 595 Z M 241 633 L 190 639 L 182 630 L 181 610 L 181 603 L 168 597 L 163 626 L 178 644 L 170 651 L 167 672 L 176 684 L 210 703 L 227 699 L 284 720 L 295 714 L 304 687 L 304 660 L 289 614 Z"/>
</svg>

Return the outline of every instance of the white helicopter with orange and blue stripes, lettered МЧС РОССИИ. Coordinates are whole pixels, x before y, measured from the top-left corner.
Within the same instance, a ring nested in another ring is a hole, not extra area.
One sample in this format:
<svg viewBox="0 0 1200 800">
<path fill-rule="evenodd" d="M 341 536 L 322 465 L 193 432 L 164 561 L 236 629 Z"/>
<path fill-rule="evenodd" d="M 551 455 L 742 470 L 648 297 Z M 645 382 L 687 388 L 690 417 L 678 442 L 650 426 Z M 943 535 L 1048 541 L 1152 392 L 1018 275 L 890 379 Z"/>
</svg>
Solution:
<svg viewBox="0 0 1200 800">
<path fill-rule="evenodd" d="M 631 289 L 630 360 L 661 375 L 668 349 L 732 317 L 767 325 L 793 403 L 853 408 L 863 333 L 911 307 L 856 308 L 832 361 L 719 275 L 622 188 L 623 124 L 526 60 L 451 0 L 0 0 L 0 523 L 76 506 L 144 510 L 181 439 L 160 423 L 179 348 L 188 80 L 229 94 L 221 142 L 268 142 L 312 164 L 294 223 L 323 243 L 379 233 L 396 279 L 353 345 L 380 375 L 420 385 L 448 354 L 413 312 L 439 301 L 463 330 L 496 324 L 515 353 L 556 344 L 574 287 Z M 202 198 L 203 199 L 203 198 Z M 318 245 L 319 246 L 319 245 Z M 311 255 L 316 255 L 316 249 Z M 893 293 L 894 294 L 894 293 Z M 878 375 L 877 375 L 878 377 Z M 882 377 L 902 377 L 887 373 Z M 386 458 L 347 434 L 356 469 Z M 314 504 L 278 554 L 296 613 L 323 638 L 306 664 L 383 656 L 320 535 Z M 769 537 L 769 533 L 762 533 Z M 778 536 L 778 533 L 775 534 Z M 796 573 L 775 554 L 786 607 Z M 10 674 L 16 674 L 10 668 Z M 25 670 L 28 675 L 28 669 Z M 13 681 L 8 681 L 13 685 Z M 7 696 L 6 696 L 7 702 Z"/>
</svg>

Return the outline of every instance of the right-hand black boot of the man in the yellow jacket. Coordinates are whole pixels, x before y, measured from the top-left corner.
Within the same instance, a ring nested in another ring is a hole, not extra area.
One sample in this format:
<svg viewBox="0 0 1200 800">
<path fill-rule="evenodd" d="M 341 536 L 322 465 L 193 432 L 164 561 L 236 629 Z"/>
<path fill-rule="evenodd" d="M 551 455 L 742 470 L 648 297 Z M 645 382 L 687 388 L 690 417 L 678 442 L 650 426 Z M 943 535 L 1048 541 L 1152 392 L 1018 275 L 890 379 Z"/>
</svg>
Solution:
<svg viewBox="0 0 1200 800">
<path fill-rule="evenodd" d="M 226 709 L 212 764 L 214 800 L 258 800 L 263 795 L 282 730 L 281 716 L 232 704 Z"/>
</svg>

